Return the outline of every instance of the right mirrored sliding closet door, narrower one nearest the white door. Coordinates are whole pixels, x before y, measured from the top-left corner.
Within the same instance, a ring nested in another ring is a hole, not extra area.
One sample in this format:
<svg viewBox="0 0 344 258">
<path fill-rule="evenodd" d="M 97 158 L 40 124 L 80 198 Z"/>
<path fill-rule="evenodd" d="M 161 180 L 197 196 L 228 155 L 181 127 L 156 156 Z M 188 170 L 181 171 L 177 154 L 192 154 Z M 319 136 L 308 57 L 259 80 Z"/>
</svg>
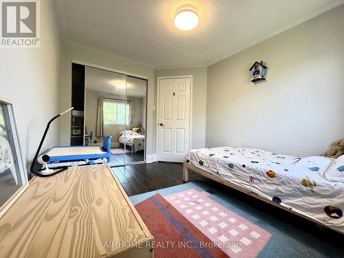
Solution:
<svg viewBox="0 0 344 258">
<path fill-rule="evenodd" d="M 147 80 L 127 76 L 125 164 L 144 162 L 146 155 Z"/>
</svg>

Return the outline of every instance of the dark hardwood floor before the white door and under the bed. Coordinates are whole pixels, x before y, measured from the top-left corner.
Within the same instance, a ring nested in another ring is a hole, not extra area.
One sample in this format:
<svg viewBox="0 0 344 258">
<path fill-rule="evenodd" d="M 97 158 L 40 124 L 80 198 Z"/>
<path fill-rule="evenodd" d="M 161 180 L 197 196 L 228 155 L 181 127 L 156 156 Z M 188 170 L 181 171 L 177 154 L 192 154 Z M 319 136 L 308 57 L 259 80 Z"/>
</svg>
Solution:
<svg viewBox="0 0 344 258">
<path fill-rule="evenodd" d="M 183 184 L 181 163 L 154 162 L 150 164 L 120 166 L 112 168 L 112 170 L 129 196 Z M 240 202 L 248 204 L 252 208 L 280 219 L 295 228 L 303 230 L 305 233 L 314 235 L 315 237 L 323 241 L 327 241 L 338 248 L 344 247 L 343 235 L 336 233 L 333 230 L 317 226 L 307 219 L 303 219 L 302 217 L 289 213 L 288 211 L 284 211 L 281 208 L 277 208 L 271 204 L 257 200 L 250 195 L 231 189 L 228 186 L 219 184 L 218 182 L 205 178 L 202 175 L 190 173 L 189 181 L 203 182 L 214 189 L 222 191 L 222 193 L 226 193 L 230 197 L 236 198 Z"/>
</svg>

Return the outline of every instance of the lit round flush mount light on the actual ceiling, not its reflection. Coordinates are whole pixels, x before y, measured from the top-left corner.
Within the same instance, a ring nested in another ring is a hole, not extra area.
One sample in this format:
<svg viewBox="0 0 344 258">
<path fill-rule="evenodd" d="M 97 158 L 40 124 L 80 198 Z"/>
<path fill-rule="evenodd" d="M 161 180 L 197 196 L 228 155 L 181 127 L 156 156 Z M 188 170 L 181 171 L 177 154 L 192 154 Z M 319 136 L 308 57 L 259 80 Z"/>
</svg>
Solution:
<svg viewBox="0 0 344 258">
<path fill-rule="evenodd" d="M 180 6 L 174 17 L 174 24 L 180 30 L 192 30 L 196 28 L 200 17 L 194 6 Z"/>
</svg>

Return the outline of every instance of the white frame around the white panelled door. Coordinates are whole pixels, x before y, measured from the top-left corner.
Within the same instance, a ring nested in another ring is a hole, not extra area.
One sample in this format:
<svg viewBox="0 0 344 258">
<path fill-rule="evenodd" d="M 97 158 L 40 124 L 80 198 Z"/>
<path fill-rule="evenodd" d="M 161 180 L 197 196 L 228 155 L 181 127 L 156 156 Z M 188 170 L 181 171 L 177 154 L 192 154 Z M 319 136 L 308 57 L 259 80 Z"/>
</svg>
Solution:
<svg viewBox="0 0 344 258">
<path fill-rule="evenodd" d="M 192 75 L 179 75 L 179 76 L 159 76 L 157 78 L 156 85 L 156 121 L 155 121 L 155 153 L 156 160 L 159 161 L 159 93 L 160 93 L 160 80 L 164 79 L 178 79 L 189 78 L 190 79 L 190 119 L 189 119 L 189 149 L 192 149 L 192 125 L 193 125 L 193 76 Z"/>
</svg>

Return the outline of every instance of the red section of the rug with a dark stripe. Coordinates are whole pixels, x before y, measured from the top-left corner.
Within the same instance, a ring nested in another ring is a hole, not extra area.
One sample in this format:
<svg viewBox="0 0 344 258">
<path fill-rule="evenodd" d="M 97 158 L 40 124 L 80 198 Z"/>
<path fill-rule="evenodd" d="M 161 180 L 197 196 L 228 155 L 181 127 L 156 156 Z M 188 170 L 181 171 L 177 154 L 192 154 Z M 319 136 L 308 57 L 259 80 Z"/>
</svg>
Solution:
<svg viewBox="0 0 344 258">
<path fill-rule="evenodd" d="M 137 204 L 136 210 L 154 236 L 154 257 L 227 257 L 161 195 Z"/>
</svg>

